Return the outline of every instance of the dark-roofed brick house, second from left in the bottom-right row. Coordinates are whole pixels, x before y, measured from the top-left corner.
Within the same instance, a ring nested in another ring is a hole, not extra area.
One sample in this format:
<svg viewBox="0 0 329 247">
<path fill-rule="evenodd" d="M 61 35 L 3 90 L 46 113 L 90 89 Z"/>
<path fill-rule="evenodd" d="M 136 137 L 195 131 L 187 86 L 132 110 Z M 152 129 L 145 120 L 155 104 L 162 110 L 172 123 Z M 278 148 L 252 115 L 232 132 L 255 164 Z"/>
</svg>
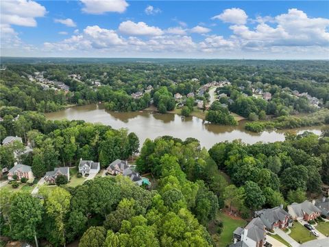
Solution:
<svg viewBox="0 0 329 247">
<path fill-rule="evenodd" d="M 288 228 L 293 224 L 293 220 L 291 220 L 289 213 L 283 209 L 283 205 L 273 209 L 256 211 L 255 216 L 259 217 L 265 227 L 269 230 Z"/>
</svg>

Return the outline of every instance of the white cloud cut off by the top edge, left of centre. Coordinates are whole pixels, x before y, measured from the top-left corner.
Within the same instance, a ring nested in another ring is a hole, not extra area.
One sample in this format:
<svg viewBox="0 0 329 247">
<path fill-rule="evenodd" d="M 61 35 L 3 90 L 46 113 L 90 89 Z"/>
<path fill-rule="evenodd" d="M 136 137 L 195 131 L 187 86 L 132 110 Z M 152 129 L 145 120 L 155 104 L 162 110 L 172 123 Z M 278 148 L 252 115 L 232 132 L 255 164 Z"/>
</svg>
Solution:
<svg viewBox="0 0 329 247">
<path fill-rule="evenodd" d="M 106 12 L 125 12 L 129 4 L 125 0 L 80 0 L 84 3 L 82 12 L 104 14 Z"/>
</svg>

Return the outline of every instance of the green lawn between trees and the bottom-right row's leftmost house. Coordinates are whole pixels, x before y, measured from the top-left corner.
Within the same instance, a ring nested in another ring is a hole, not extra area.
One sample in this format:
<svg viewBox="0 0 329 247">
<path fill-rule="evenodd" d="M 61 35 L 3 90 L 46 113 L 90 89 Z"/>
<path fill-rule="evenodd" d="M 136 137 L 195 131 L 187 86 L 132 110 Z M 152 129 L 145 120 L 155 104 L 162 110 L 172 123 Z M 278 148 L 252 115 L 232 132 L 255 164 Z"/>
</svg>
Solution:
<svg viewBox="0 0 329 247">
<path fill-rule="evenodd" d="M 234 230 L 239 226 L 244 227 L 247 224 L 245 220 L 233 220 L 224 213 L 217 213 L 217 219 L 223 222 L 223 231 L 215 239 L 216 245 L 219 247 L 228 246 L 233 239 Z"/>
</svg>

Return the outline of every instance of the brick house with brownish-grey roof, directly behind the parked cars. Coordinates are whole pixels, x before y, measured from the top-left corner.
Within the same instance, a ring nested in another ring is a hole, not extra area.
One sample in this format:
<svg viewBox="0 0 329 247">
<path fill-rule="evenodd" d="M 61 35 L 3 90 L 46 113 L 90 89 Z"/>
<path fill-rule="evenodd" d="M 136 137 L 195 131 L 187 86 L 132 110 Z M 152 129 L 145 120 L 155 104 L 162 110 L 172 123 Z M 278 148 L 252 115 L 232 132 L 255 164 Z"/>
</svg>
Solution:
<svg viewBox="0 0 329 247">
<path fill-rule="evenodd" d="M 313 203 L 308 200 L 302 203 L 293 202 L 288 206 L 288 212 L 293 220 L 314 220 L 320 216 L 321 210 L 315 206 L 315 201 Z"/>
</svg>

